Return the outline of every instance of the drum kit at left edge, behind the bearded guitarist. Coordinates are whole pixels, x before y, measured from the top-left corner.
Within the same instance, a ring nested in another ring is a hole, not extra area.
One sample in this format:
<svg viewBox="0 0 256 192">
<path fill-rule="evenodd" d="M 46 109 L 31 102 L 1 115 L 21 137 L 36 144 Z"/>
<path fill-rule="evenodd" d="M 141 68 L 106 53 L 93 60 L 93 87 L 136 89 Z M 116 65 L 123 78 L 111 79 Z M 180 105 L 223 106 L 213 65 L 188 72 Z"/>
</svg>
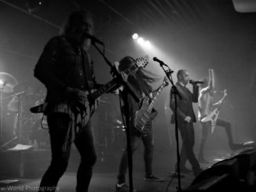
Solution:
<svg viewBox="0 0 256 192">
<path fill-rule="evenodd" d="M 0 149 L 12 144 L 38 143 L 49 147 L 46 119 L 42 114 L 32 114 L 30 107 L 43 103 L 45 92 L 34 92 L 31 85 L 18 84 L 12 74 L 0 72 Z"/>
</svg>

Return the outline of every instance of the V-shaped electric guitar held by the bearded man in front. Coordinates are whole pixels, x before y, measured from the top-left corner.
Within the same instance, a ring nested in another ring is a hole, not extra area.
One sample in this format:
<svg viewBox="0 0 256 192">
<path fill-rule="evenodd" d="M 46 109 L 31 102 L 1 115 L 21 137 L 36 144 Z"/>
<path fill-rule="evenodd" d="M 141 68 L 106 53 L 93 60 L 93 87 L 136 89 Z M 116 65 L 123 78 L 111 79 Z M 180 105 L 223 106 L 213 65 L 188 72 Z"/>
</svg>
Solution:
<svg viewBox="0 0 256 192">
<path fill-rule="evenodd" d="M 146 67 L 148 64 L 148 56 L 140 57 L 136 59 L 136 62 L 134 62 L 130 67 L 128 67 L 125 71 L 120 71 L 122 74 L 129 75 L 133 73 L 133 71 L 137 70 L 140 67 Z M 105 85 L 102 85 L 100 89 L 97 89 L 93 92 L 86 92 L 88 100 L 83 101 L 82 103 L 75 103 L 77 106 L 75 107 L 77 112 L 79 110 L 83 110 L 86 112 L 85 122 L 87 123 L 90 118 L 92 117 L 93 113 L 97 109 L 99 105 L 99 98 L 101 95 L 103 95 L 105 92 L 108 92 L 116 87 L 116 89 L 119 86 L 119 78 L 113 78 L 112 81 L 108 82 Z M 31 107 L 31 113 L 46 113 L 48 103 L 42 103 L 38 106 Z M 60 110 L 60 112 L 64 112 L 67 110 L 67 103 L 60 103 L 55 107 L 57 110 Z"/>
</svg>

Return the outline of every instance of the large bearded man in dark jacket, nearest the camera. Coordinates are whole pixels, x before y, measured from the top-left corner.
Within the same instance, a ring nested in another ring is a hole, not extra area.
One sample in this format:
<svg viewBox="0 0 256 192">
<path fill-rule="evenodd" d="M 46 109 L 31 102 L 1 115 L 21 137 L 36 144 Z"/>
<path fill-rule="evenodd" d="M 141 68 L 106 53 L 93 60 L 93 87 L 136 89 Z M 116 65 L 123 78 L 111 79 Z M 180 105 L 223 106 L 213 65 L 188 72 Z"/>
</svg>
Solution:
<svg viewBox="0 0 256 192">
<path fill-rule="evenodd" d="M 97 88 L 93 63 L 87 53 L 93 34 L 90 13 L 71 13 L 60 36 L 51 38 L 35 66 L 35 77 L 47 88 L 45 114 L 49 126 L 52 161 L 42 177 L 39 191 L 55 191 L 64 174 L 71 144 L 79 150 L 81 161 L 77 172 L 77 192 L 88 191 L 97 155 L 92 129 L 85 124 L 86 91 Z"/>
</svg>

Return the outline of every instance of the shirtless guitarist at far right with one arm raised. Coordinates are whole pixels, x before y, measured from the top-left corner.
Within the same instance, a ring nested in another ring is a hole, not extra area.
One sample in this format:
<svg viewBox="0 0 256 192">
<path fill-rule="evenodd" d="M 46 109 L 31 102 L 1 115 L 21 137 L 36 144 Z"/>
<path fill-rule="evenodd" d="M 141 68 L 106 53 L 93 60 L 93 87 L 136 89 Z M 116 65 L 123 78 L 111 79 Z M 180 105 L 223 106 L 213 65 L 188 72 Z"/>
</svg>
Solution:
<svg viewBox="0 0 256 192">
<path fill-rule="evenodd" d="M 203 122 L 201 121 L 203 118 L 207 117 L 207 115 L 212 112 L 214 106 L 218 106 L 220 101 L 214 103 L 214 70 L 209 69 L 209 76 L 203 80 L 203 84 L 201 84 L 201 90 L 199 92 L 199 121 L 202 125 L 202 138 L 199 147 L 199 162 L 207 163 L 204 159 L 204 146 L 207 142 L 207 138 L 210 133 L 211 121 Z M 217 126 L 221 126 L 225 128 L 225 132 L 227 133 L 229 139 L 229 147 L 231 150 L 237 150 L 240 148 L 240 144 L 233 143 L 232 138 L 232 129 L 229 121 L 222 120 L 218 118 L 216 121 Z"/>
</svg>

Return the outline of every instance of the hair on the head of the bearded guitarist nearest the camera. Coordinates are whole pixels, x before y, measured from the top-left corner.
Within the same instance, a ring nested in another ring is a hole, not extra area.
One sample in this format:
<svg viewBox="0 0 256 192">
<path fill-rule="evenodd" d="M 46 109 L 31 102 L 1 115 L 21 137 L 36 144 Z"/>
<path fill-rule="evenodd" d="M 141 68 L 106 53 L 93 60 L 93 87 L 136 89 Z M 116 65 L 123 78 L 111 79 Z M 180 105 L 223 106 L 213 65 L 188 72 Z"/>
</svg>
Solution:
<svg viewBox="0 0 256 192">
<path fill-rule="evenodd" d="M 83 18 L 88 18 L 91 20 L 91 24 L 93 25 L 92 14 L 84 9 L 78 10 L 72 12 L 68 16 L 68 19 L 64 21 L 63 26 L 60 28 L 60 35 L 71 35 L 79 27 L 79 24 L 82 23 Z"/>
</svg>

